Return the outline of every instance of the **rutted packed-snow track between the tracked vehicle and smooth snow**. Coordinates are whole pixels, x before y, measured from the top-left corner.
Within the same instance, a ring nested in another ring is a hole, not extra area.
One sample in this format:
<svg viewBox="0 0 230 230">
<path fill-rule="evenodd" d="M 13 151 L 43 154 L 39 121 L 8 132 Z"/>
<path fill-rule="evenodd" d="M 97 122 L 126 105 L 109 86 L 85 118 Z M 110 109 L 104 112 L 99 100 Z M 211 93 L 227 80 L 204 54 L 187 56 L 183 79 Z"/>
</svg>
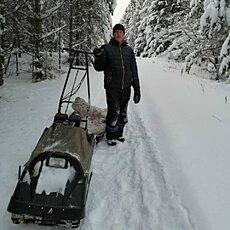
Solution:
<svg viewBox="0 0 230 230">
<path fill-rule="evenodd" d="M 84 230 L 189 230 L 187 210 L 167 183 L 159 151 L 131 104 L 126 142 L 96 147 Z"/>
</svg>

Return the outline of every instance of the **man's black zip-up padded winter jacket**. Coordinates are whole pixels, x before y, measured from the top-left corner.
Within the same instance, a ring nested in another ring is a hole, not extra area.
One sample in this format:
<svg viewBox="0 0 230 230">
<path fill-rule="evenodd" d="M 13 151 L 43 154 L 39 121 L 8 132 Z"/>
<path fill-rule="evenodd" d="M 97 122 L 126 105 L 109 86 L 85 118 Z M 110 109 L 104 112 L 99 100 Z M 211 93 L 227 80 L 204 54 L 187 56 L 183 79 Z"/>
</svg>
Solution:
<svg viewBox="0 0 230 230">
<path fill-rule="evenodd" d="M 114 38 L 109 44 L 101 47 L 102 55 L 95 57 L 94 68 L 97 71 L 104 71 L 105 89 L 133 86 L 139 89 L 139 78 L 137 64 L 133 49 L 123 42 L 119 45 Z"/>
</svg>

